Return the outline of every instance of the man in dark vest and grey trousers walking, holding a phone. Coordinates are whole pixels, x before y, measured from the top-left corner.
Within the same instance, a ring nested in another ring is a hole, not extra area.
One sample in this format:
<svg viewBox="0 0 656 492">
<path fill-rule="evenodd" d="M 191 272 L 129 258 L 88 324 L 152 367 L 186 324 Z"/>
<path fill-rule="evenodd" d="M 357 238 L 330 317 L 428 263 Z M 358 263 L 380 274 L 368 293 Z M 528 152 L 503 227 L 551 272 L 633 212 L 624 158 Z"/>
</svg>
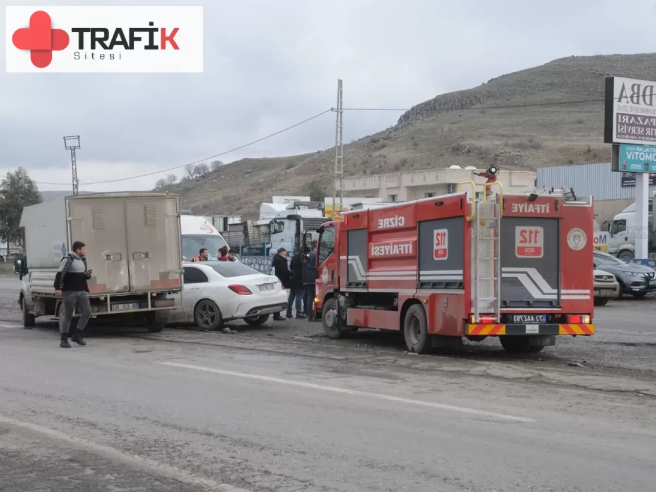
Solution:
<svg viewBox="0 0 656 492">
<path fill-rule="evenodd" d="M 64 319 L 59 326 L 61 335 L 59 346 L 61 348 L 71 348 L 71 344 L 68 342 L 69 336 L 78 345 L 86 345 L 87 342 L 82 339 L 82 331 L 91 318 L 87 279 L 91 278 L 93 269 L 87 268 L 87 258 L 85 257 L 87 247 L 82 241 L 75 241 L 72 250 L 62 258 L 59 271 L 54 277 L 54 295 L 62 298 L 60 309 L 64 310 Z M 76 306 L 82 312 L 82 316 L 77 321 L 77 328 L 70 329 Z"/>
</svg>

